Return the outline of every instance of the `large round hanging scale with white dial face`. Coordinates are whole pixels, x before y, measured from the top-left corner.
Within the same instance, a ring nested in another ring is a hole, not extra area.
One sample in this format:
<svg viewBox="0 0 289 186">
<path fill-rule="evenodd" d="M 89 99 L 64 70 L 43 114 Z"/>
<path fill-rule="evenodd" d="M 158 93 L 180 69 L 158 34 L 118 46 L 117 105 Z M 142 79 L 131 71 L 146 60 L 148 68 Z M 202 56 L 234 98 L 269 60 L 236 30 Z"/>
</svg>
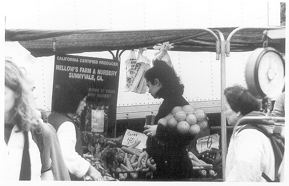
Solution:
<svg viewBox="0 0 289 186">
<path fill-rule="evenodd" d="M 284 60 L 280 53 L 272 47 L 257 48 L 245 66 L 248 90 L 257 98 L 272 98 L 284 87 L 284 72 Z"/>
</svg>

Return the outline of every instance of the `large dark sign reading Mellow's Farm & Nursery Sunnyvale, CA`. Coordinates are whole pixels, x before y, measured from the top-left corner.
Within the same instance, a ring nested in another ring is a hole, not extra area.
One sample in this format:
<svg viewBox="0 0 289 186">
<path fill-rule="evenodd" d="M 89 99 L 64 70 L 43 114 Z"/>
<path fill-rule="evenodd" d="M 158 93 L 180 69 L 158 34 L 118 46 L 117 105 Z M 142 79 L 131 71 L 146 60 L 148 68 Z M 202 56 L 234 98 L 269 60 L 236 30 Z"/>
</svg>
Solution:
<svg viewBox="0 0 289 186">
<path fill-rule="evenodd" d="M 119 62 L 113 59 L 55 54 L 52 111 L 61 92 L 69 86 L 85 86 L 86 109 L 80 129 L 112 135 L 116 118 Z"/>
</svg>

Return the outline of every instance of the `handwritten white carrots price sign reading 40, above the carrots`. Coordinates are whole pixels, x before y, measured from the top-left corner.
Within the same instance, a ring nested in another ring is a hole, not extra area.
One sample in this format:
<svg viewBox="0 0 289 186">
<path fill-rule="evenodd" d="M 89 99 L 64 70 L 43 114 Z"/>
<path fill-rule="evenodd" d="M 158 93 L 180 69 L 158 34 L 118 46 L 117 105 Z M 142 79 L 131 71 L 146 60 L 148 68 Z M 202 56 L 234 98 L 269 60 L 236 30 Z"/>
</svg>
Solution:
<svg viewBox="0 0 289 186">
<path fill-rule="evenodd" d="M 141 150 L 142 148 L 146 147 L 146 139 L 147 136 L 144 133 L 126 129 L 121 144 L 124 146 L 129 146 L 137 141 L 140 141 L 140 143 L 135 148 Z"/>
</svg>

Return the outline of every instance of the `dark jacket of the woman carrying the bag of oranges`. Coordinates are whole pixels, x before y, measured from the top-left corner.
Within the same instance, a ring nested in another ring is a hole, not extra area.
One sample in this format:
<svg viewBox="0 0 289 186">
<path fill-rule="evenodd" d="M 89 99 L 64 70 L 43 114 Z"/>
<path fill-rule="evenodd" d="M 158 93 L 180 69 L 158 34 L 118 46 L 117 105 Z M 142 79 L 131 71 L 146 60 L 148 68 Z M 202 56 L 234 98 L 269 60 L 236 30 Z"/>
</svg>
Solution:
<svg viewBox="0 0 289 186">
<path fill-rule="evenodd" d="M 157 95 L 163 98 L 155 116 L 157 120 L 166 116 L 175 106 L 187 105 L 182 95 L 160 89 Z M 153 177 L 158 180 L 185 180 L 191 176 L 192 164 L 187 155 L 186 145 L 194 136 L 180 134 L 176 129 L 157 125 L 156 137 L 148 137 L 146 151 L 156 163 Z"/>
</svg>

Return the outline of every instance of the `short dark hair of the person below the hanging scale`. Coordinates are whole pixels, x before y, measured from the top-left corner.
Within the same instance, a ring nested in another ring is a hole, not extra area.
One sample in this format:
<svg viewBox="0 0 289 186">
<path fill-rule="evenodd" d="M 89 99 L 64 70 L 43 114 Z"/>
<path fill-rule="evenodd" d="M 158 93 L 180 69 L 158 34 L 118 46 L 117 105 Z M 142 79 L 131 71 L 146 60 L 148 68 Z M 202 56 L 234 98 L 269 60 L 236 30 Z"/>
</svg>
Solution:
<svg viewBox="0 0 289 186">
<path fill-rule="evenodd" d="M 259 111 L 261 108 L 260 101 L 241 85 L 225 88 L 224 95 L 231 109 L 235 112 L 240 111 L 242 115 L 246 115 L 251 111 Z"/>
</svg>

